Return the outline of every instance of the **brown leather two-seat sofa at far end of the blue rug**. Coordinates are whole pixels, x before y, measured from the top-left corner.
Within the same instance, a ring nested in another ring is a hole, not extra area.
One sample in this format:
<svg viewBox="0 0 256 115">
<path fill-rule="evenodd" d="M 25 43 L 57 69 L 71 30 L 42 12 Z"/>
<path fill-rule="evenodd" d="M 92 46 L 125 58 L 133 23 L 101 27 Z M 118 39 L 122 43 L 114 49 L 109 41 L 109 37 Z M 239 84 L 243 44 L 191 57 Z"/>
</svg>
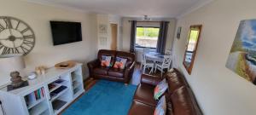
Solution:
<svg viewBox="0 0 256 115">
<path fill-rule="evenodd" d="M 116 57 L 127 59 L 125 69 L 121 70 L 113 67 L 101 66 L 102 55 L 111 56 L 111 65 L 114 65 Z M 135 55 L 122 51 L 101 49 L 98 52 L 97 59 L 90 61 L 87 66 L 89 68 L 90 77 L 92 78 L 103 78 L 129 83 L 135 66 Z"/>
</svg>

